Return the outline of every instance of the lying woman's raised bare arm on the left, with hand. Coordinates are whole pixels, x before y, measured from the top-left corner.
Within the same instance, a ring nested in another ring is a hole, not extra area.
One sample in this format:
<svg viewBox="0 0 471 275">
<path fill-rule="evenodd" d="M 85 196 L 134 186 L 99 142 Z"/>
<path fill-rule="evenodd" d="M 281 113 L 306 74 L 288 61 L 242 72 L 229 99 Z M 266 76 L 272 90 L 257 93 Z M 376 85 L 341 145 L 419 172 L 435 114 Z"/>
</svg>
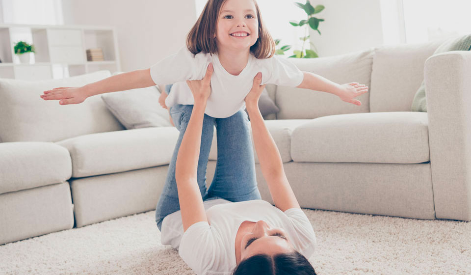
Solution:
<svg viewBox="0 0 471 275">
<path fill-rule="evenodd" d="M 210 81 L 212 71 L 212 64 L 210 63 L 202 80 L 186 81 L 193 93 L 195 104 L 193 105 L 180 149 L 178 150 L 175 168 L 183 231 L 186 231 L 188 227 L 196 222 L 208 221 L 196 175 L 200 155 L 201 132 L 203 131 L 203 118 L 208 97 L 211 93 Z"/>
</svg>

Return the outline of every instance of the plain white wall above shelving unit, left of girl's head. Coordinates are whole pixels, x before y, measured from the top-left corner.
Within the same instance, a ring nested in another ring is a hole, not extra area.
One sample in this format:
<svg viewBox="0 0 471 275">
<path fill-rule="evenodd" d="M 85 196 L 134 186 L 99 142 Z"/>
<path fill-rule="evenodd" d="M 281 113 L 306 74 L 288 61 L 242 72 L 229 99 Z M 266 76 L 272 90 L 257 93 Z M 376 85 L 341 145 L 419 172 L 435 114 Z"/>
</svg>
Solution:
<svg viewBox="0 0 471 275">
<path fill-rule="evenodd" d="M 116 26 L 126 72 L 176 53 L 196 22 L 194 0 L 62 0 L 62 8 L 66 25 Z"/>
</svg>

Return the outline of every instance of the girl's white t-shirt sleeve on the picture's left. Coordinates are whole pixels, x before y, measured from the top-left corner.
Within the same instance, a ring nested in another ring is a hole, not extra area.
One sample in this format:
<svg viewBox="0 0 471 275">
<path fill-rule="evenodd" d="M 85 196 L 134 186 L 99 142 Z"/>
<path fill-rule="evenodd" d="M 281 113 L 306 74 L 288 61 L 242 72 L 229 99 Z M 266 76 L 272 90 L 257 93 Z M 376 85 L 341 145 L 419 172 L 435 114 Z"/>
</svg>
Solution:
<svg viewBox="0 0 471 275">
<path fill-rule="evenodd" d="M 201 75 L 201 68 L 207 63 L 206 59 L 205 54 L 193 55 L 188 48 L 182 47 L 177 53 L 152 65 L 151 78 L 156 85 L 200 79 L 198 77 Z"/>
</svg>

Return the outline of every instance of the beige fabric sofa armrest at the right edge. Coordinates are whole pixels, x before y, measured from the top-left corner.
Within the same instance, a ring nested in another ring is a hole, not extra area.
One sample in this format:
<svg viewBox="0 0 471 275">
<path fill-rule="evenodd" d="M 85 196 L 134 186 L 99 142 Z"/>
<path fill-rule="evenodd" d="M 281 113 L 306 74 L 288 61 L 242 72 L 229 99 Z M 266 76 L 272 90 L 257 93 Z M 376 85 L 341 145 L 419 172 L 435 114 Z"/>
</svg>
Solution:
<svg viewBox="0 0 471 275">
<path fill-rule="evenodd" d="M 471 220 L 471 52 L 429 57 L 424 81 L 435 215 Z"/>
</svg>

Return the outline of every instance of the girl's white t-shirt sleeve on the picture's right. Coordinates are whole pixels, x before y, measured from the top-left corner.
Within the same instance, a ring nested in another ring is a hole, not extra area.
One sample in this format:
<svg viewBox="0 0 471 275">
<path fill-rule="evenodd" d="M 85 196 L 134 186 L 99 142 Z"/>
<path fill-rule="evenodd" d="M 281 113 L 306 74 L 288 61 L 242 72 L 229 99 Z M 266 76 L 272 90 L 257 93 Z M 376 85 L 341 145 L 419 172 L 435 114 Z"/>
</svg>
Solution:
<svg viewBox="0 0 471 275">
<path fill-rule="evenodd" d="M 304 80 L 304 73 L 286 58 L 273 55 L 263 60 L 262 84 L 273 83 L 282 86 L 296 87 Z"/>
</svg>

